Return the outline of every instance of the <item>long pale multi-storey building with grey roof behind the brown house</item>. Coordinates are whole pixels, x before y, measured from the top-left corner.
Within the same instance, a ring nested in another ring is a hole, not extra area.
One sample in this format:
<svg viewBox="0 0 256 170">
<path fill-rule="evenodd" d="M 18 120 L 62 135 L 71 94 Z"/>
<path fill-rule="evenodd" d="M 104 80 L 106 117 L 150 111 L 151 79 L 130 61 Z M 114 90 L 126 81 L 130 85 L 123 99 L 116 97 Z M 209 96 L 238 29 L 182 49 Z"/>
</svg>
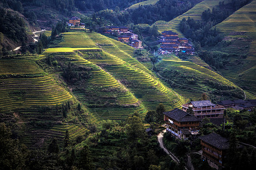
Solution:
<svg viewBox="0 0 256 170">
<path fill-rule="evenodd" d="M 210 100 L 191 101 L 183 104 L 182 110 L 187 112 L 188 108 L 192 108 L 195 116 L 198 118 L 221 118 L 224 114 L 224 107 L 210 102 Z"/>
</svg>

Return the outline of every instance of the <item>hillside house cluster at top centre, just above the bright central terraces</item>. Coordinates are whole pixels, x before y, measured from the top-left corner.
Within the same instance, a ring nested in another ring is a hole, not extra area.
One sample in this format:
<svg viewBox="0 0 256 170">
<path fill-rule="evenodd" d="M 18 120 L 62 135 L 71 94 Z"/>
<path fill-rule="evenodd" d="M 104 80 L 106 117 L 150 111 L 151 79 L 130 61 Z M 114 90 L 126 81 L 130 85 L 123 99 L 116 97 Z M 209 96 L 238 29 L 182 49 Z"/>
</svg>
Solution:
<svg viewBox="0 0 256 170">
<path fill-rule="evenodd" d="M 116 27 L 116 26 L 107 26 L 101 28 L 101 32 L 114 34 L 117 33 L 119 36 L 118 41 L 126 42 L 133 48 L 143 49 L 142 41 L 138 39 L 138 35 L 133 33 L 133 31 L 127 27 Z"/>
</svg>

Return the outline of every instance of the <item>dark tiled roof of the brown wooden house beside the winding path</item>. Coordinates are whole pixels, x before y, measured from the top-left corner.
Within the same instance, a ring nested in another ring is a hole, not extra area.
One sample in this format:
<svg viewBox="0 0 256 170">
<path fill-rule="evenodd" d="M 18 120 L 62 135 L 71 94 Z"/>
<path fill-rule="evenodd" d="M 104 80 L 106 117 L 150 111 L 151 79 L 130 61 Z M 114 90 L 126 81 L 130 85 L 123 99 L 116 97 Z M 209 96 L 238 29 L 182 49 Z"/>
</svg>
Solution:
<svg viewBox="0 0 256 170">
<path fill-rule="evenodd" d="M 163 114 L 179 122 L 201 121 L 199 118 L 187 112 L 181 111 L 180 109 L 177 109 L 177 108 L 173 109 L 170 112 L 164 112 Z"/>
</svg>

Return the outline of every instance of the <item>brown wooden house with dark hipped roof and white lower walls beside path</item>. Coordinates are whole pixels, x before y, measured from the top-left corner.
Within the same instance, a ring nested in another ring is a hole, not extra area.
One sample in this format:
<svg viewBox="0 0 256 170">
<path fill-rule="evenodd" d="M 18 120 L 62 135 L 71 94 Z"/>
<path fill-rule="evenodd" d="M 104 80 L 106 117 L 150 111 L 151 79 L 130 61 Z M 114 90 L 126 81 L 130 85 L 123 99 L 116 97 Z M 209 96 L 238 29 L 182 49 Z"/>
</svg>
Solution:
<svg viewBox="0 0 256 170">
<path fill-rule="evenodd" d="M 195 138 L 199 134 L 199 118 L 177 108 L 163 114 L 166 130 L 176 138 Z"/>
</svg>

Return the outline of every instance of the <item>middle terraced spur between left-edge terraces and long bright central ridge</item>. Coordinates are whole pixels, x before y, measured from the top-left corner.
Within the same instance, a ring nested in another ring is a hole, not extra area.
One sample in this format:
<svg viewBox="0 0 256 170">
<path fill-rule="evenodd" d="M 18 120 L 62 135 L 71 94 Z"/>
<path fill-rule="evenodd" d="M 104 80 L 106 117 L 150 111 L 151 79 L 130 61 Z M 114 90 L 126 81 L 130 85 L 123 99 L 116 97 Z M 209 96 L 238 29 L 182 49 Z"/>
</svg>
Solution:
<svg viewBox="0 0 256 170">
<path fill-rule="evenodd" d="M 96 59 L 92 59 L 92 61 L 85 59 L 86 56 L 90 56 L 88 54 L 97 53 L 102 53 L 102 56 L 105 56 L 105 59 L 102 58 L 102 62 L 105 64 L 120 62 L 120 59 L 114 61 L 111 55 L 110 58 L 106 58 L 106 53 L 104 52 L 91 52 L 91 50 L 85 49 L 76 50 L 76 52 L 72 53 L 58 53 L 59 56 L 72 59 L 73 63 L 92 68 L 92 71 L 90 71 L 92 77 L 84 85 L 86 91 L 73 91 L 77 99 L 86 105 L 89 111 L 94 114 L 92 123 L 96 123 L 102 119 L 125 120 L 127 115 L 134 111 L 138 111 L 142 115 L 146 114 L 147 109 L 144 108 L 143 104 L 125 86 L 111 74 L 94 64 L 95 62 L 100 65 L 100 62 L 96 61 Z M 81 57 L 82 55 L 84 55 L 84 58 Z"/>
</svg>

